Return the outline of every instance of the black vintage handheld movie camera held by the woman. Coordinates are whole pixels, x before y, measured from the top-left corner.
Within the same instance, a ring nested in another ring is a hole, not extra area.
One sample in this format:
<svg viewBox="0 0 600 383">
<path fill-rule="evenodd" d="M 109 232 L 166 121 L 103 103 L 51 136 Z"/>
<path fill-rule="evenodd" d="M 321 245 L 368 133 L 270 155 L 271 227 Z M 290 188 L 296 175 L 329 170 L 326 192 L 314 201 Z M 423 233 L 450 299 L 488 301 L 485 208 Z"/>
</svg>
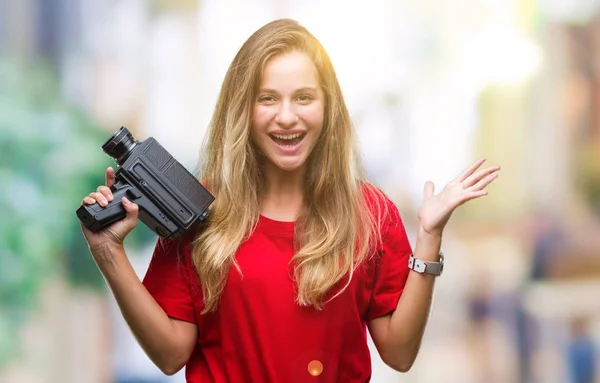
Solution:
<svg viewBox="0 0 600 383">
<path fill-rule="evenodd" d="M 106 207 L 95 203 L 77 209 L 88 229 L 98 231 L 125 218 L 124 196 L 139 206 L 139 219 L 162 238 L 177 238 L 208 216 L 214 197 L 154 138 L 139 142 L 121 127 L 102 150 L 118 165 L 111 186 L 114 199 Z"/>
</svg>

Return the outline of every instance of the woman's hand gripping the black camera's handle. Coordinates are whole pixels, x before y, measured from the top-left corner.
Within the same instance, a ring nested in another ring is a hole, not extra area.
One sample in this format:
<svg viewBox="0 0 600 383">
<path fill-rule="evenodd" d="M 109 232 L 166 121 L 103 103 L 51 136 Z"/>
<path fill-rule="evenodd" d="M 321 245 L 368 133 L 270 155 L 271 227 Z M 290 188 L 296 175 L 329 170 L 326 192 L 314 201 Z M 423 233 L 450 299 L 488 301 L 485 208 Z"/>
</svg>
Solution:
<svg viewBox="0 0 600 383">
<path fill-rule="evenodd" d="M 95 192 L 90 193 L 82 201 L 85 205 L 93 205 L 96 202 L 100 206 L 106 206 L 113 200 L 113 194 L 110 187 L 115 183 L 115 172 L 112 168 L 106 169 L 106 185 L 98 186 Z M 137 225 L 138 222 L 138 206 L 127 198 L 121 200 L 123 208 L 127 212 L 127 216 L 112 225 L 98 231 L 93 232 L 85 225 L 81 224 L 81 230 L 85 236 L 90 249 L 97 245 L 116 244 L 122 245 L 125 236 Z"/>
</svg>

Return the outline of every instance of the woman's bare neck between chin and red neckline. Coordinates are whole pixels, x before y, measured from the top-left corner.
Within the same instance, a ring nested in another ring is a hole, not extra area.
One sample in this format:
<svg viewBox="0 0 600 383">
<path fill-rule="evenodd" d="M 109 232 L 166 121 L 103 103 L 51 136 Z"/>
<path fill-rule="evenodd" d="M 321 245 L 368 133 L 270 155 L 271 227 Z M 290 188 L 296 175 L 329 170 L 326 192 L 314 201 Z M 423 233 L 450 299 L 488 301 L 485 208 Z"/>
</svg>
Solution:
<svg viewBox="0 0 600 383">
<path fill-rule="evenodd" d="M 293 172 L 272 164 L 264 169 L 260 212 L 278 221 L 295 221 L 304 200 L 304 167 Z"/>
</svg>

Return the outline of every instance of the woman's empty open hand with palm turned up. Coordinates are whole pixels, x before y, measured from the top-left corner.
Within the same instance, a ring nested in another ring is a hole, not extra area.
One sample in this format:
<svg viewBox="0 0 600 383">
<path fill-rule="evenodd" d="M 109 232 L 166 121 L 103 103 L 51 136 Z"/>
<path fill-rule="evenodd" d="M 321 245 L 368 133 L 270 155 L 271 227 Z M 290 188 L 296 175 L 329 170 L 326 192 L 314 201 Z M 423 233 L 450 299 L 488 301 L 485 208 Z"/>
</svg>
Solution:
<svg viewBox="0 0 600 383">
<path fill-rule="evenodd" d="M 425 183 L 419 222 L 426 233 L 441 235 L 458 206 L 488 194 L 485 187 L 498 177 L 500 166 L 479 169 L 484 162 L 484 158 L 475 161 L 438 194 L 434 195 L 433 182 Z"/>
</svg>

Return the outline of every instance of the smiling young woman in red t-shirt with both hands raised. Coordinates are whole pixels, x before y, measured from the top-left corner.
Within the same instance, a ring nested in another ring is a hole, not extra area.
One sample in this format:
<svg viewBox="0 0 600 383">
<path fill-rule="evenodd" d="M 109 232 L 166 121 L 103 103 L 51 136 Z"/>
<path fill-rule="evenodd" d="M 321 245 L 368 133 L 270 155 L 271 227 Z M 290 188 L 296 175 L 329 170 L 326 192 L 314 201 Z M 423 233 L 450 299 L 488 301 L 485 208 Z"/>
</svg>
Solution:
<svg viewBox="0 0 600 383">
<path fill-rule="evenodd" d="M 413 258 L 398 210 L 364 176 L 329 57 L 288 19 L 256 31 L 231 63 L 204 154 L 211 216 L 159 240 L 143 282 L 123 250 L 135 204 L 124 198 L 127 217 L 102 232 L 83 227 L 154 363 L 186 366 L 193 383 L 366 382 L 368 328 L 382 359 L 408 371 L 444 226 L 499 167 L 478 160 L 437 195 L 425 185 Z M 113 183 L 109 168 L 83 203 L 106 204 Z"/>
</svg>

